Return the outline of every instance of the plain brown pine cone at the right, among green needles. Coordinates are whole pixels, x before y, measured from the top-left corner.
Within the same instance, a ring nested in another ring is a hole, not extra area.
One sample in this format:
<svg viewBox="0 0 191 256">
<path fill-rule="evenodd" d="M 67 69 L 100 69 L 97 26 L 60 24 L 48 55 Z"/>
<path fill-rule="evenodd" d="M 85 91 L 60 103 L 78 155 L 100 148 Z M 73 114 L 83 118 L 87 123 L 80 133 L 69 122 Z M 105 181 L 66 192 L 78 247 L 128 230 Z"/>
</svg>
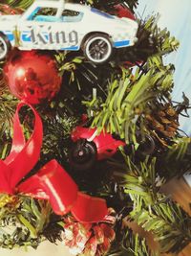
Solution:
<svg viewBox="0 0 191 256">
<path fill-rule="evenodd" d="M 173 105 L 158 105 L 150 114 L 146 115 L 147 126 L 162 146 L 167 146 L 179 128 L 179 114 Z"/>
</svg>

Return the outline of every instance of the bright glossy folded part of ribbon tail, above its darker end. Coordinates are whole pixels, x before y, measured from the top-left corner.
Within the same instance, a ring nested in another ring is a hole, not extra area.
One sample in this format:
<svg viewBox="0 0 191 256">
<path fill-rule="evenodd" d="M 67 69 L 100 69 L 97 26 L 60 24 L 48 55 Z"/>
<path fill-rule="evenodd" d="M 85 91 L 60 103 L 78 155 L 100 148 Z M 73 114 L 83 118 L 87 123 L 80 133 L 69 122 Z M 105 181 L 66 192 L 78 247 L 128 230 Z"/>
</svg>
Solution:
<svg viewBox="0 0 191 256">
<path fill-rule="evenodd" d="M 56 160 L 48 162 L 36 175 L 21 183 L 18 189 L 34 198 L 48 198 L 58 215 L 70 211 L 78 191 L 73 178 Z"/>
</svg>

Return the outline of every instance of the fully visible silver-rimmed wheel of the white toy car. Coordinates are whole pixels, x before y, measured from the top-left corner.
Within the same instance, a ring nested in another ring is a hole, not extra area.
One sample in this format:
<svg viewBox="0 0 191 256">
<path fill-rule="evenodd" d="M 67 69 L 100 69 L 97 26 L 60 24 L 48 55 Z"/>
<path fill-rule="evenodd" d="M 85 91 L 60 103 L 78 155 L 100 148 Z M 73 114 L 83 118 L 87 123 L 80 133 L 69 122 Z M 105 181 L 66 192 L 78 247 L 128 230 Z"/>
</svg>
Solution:
<svg viewBox="0 0 191 256">
<path fill-rule="evenodd" d="M 83 45 L 84 56 L 95 64 L 109 60 L 113 53 L 113 45 L 107 35 L 90 35 Z"/>
</svg>

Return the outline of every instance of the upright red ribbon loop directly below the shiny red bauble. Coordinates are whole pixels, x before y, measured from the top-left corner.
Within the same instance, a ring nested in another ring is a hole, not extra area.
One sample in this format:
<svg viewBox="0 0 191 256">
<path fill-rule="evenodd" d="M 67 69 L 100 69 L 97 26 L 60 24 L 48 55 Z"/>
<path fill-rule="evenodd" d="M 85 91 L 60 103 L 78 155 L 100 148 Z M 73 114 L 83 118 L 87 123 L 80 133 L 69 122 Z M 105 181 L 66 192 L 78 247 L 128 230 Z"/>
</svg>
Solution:
<svg viewBox="0 0 191 256">
<path fill-rule="evenodd" d="M 40 149 L 42 146 L 42 121 L 32 105 L 29 106 L 31 107 L 34 114 L 35 123 L 31 138 L 28 140 L 27 143 L 25 142 L 23 129 L 21 127 L 18 115 L 19 110 L 23 105 L 26 104 L 20 103 L 19 105 L 17 105 L 13 119 L 13 138 L 11 153 L 4 160 L 4 163 L 9 166 L 10 169 L 9 183 L 12 190 L 15 188 L 16 184 L 21 180 L 21 178 L 27 175 L 37 163 L 40 157 Z"/>
</svg>

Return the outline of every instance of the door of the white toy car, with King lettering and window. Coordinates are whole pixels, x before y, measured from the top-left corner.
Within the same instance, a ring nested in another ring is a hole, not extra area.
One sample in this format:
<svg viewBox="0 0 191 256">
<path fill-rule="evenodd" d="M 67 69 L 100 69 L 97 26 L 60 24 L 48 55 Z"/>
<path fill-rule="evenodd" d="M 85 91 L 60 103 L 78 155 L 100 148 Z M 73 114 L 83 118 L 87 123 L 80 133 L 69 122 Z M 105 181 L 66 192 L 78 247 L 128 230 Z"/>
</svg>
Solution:
<svg viewBox="0 0 191 256">
<path fill-rule="evenodd" d="M 69 47 L 69 30 L 56 8 L 37 8 L 17 24 L 21 49 L 60 50 Z"/>
</svg>

